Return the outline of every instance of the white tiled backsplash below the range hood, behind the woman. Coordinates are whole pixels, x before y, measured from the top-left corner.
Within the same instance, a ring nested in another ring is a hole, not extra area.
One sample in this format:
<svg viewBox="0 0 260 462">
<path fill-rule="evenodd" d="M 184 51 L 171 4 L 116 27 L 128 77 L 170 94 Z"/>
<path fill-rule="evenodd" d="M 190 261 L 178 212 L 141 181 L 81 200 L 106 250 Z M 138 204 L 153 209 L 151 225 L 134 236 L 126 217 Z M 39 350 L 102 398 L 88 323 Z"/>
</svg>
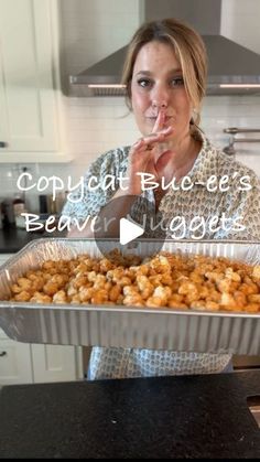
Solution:
<svg viewBox="0 0 260 462">
<path fill-rule="evenodd" d="M 28 166 L 34 182 L 40 176 L 57 175 L 66 185 L 68 175 L 79 180 L 90 162 L 100 153 L 123 144 L 133 143 L 140 133 L 123 98 L 67 98 L 67 150 L 74 154 L 69 164 L 1 164 L 0 197 L 13 196 L 17 179 L 23 166 Z M 201 127 L 208 138 L 219 148 L 229 142 L 227 127 L 260 129 L 260 97 L 221 96 L 206 97 L 202 111 Z M 241 137 L 260 138 L 260 133 L 241 133 Z M 238 137 L 238 136 L 237 136 Z M 246 163 L 260 178 L 260 143 L 235 144 L 236 159 Z M 65 186 L 66 190 L 66 186 Z M 51 190 L 42 192 L 48 193 Z M 4 192 L 4 193 L 3 193 Z M 26 193 L 31 212 L 39 212 L 39 194 L 35 189 Z"/>
</svg>

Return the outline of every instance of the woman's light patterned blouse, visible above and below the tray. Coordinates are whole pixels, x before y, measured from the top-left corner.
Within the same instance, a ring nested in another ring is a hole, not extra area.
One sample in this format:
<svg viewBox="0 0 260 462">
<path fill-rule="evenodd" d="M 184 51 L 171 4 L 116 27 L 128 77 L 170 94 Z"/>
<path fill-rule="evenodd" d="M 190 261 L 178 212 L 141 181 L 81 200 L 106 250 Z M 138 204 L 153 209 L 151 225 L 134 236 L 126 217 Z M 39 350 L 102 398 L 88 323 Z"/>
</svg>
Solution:
<svg viewBox="0 0 260 462">
<path fill-rule="evenodd" d="M 173 216 L 183 216 L 186 223 L 195 216 L 206 218 L 204 239 L 257 239 L 260 240 L 260 187 L 254 172 L 243 164 L 235 161 L 220 150 L 210 144 L 201 131 L 195 133 L 202 141 L 202 149 L 197 159 L 188 172 L 193 183 L 189 191 L 174 191 L 169 187 L 163 196 L 159 212 L 165 222 L 170 223 Z M 84 219 L 87 215 L 96 216 L 100 208 L 112 197 L 115 191 L 99 187 L 89 191 L 88 181 L 91 176 L 101 183 L 106 175 L 115 178 L 123 176 L 128 166 L 130 147 L 111 150 L 100 155 L 88 169 L 84 179 L 84 196 L 79 202 L 67 201 L 63 215 Z M 217 183 L 210 182 L 210 176 L 216 175 L 218 182 L 223 181 L 223 187 L 215 190 Z M 225 176 L 227 175 L 227 176 Z M 221 180 L 223 179 L 223 180 Z M 212 187 L 213 186 L 213 187 Z M 119 182 L 116 187 L 119 187 Z M 210 190 L 214 191 L 210 191 Z M 142 195 L 149 203 L 155 204 L 152 190 L 143 191 Z M 73 194 L 73 198 L 80 197 L 80 191 Z M 139 205 L 134 204 L 137 216 L 142 215 Z M 236 230 L 237 226 L 229 226 L 229 230 L 219 226 L 213 229 L 209 218 L 225 214 L 230 223 L 239 222 L 245 228 Z M 134 213 L 136 215 L 136 213 Z M 136 219 L 136 216 L 134 216 Z M 183 232 L 183 230 L 182 230 Z M 184 238 L 199 236 L 185 228 Z M 170 234 L 167 237 L 173 237 Z M 139 348 L 115 348 L 95 346 L 91 352 L 88 378 L 123 378 L 123 377 L 151 377 L 163 375 L 184 374 L 212 374 L 227 370 L 231 359 L 230 354 L 209 354 L 173 351 L 154 351 Z"/>
</svg>

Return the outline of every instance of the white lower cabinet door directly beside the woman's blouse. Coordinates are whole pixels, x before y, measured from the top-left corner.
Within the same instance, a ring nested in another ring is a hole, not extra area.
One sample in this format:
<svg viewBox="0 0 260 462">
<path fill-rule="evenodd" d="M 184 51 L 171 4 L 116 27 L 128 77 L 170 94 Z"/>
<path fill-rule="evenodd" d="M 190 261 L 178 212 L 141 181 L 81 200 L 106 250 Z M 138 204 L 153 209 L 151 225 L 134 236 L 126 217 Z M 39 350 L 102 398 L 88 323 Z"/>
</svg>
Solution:
<svg viewBox="0 0 260 462">
<path fill-rule="evenodd" d="M 80 348 L 67 345 L 32 345 L 34 383 L 83 378 Z"/>
</svg>

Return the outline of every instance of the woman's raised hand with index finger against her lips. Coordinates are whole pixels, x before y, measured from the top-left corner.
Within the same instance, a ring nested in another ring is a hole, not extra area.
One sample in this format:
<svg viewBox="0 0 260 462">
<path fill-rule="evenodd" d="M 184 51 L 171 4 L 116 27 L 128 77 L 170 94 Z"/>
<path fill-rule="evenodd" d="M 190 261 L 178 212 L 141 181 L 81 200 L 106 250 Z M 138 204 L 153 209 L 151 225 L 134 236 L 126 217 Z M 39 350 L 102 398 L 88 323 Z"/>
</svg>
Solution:
<svg viewBox="0 0 260 462">
<path fill-rule="evenodd" d="M 155 148 L 158 143 L 164 142 L 173 132 L 173 127 L 163 129 L 164 120 L 165 112 L 161 110 L 151 135 L 138 140 L 130 150 L 127 171 L 127 176 L 129 178 L 128 194 L 141 194 L 141 178 L 138 174 L 140 172 L 152 174 L 154 181 L 160 181 L 161 179 L 161 162 L 160 159 L 156 159 Z"/>
</svg>

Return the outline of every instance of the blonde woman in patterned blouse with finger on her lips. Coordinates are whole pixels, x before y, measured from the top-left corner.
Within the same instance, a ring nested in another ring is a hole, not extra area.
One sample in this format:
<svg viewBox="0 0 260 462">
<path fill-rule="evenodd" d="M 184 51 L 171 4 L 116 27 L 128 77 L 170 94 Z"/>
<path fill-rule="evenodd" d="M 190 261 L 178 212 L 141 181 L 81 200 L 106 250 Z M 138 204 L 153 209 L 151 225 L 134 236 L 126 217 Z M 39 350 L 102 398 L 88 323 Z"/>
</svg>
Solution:
<svg viewBox="0 0 260 462">
<path fill-rule="evenodd" d="M 85 219 L 106 209 L 117 218 L 110 227 L 110 234 L 117 235 L 120 218 L 132 211 L 138 216 L 138 198 L 144 196 L 164 222 L 170 223 L 173 216 L 185 217 L 182 237 L 202 234 L 201 226 L 191 227 L 201 216 L 205 218 L 203 238 L 259 239 L 256 175 L 214 148 L 197 128 L 206 86 L 206 52 L 201 36 L 174 19 L 143 24 L 129 44 L 122 82 L 142 138 L 132 147 L 101 155 L 89 168 L 85 184 L 91 175 L 100 180 L 109 173 L 128 178 L 128 187 L 126 182 L 116 192 L 101 187 L 91 192 L 86 187 L 84 201 L 67 202 L 63 214 Z M 158 187 L 144 191 L 140 172 L 151 174 Z M 214 180 L 209 180 L 212 175 Z M 180 184 L 185 176 L 192 189 L 164 187 L 172 179 Z M 217 189 L 212 187 L 214 182 Z M 115 211 L 110 200 L 117 197 L 122 200 Z M 90 226 L 83 233 L 76 228 L 69 233 L 69 237 L 77 236 L 91 237 Z M 228 354 L 94 347 L 89 378 L 217 373 L 229 364 Z"/>
</svg>

